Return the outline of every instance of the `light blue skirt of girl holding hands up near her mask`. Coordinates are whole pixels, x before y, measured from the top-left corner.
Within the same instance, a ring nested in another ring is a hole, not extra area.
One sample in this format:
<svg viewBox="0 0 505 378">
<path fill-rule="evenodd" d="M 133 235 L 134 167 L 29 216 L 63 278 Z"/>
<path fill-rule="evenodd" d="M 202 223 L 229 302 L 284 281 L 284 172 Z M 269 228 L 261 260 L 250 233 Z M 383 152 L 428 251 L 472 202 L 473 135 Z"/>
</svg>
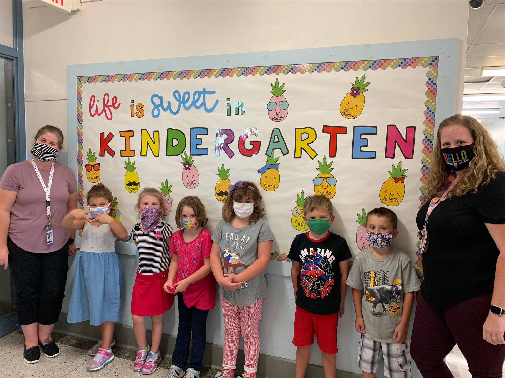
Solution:
<svg viewBox="0 0 505 378">
<path fill-rule="evenodd" d="M 118 322 L 121 313 L 121 263 L 116 253 L 79 251 L 68 323 L 92 326 Z"/>
</svg>

